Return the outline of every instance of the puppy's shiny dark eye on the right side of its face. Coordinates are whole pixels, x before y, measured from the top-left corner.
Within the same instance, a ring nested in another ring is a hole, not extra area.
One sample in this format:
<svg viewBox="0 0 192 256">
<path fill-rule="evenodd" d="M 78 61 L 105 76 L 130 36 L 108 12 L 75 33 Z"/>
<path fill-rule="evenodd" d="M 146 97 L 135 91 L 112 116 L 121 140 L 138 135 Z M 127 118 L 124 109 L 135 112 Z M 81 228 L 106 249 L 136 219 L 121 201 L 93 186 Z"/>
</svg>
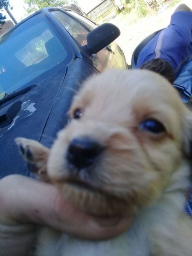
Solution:
<svg viewBox="0 0 192 256">
<path fill-rule="evenodd" d="M 140 129 L 154 134 L 160 134 L 166 131 L 165 127 L 155 119 L 147 119 L 140 124 Z"/>
</svg>

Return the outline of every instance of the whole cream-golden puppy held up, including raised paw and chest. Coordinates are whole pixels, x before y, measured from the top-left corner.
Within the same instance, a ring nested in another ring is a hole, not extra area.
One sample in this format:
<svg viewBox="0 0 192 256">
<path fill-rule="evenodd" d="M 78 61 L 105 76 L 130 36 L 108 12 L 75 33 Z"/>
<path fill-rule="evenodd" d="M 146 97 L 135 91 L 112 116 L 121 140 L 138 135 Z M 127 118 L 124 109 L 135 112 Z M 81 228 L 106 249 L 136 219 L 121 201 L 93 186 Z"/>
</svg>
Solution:
<svg viewBox="0 0 192 256">
<path fill-rule="evenodd" d="M 166 79 L 146 70 L 111 70 L 74 97 L 71 122 L 49 150 L 17 139 L 28 165 L 76 207 L 131 227 L 108 241 L 48 230 L 38 256 L 192 256 L 192 113 Z M 56 235 L 55 235 L 56 234 Z"/>
</svg>

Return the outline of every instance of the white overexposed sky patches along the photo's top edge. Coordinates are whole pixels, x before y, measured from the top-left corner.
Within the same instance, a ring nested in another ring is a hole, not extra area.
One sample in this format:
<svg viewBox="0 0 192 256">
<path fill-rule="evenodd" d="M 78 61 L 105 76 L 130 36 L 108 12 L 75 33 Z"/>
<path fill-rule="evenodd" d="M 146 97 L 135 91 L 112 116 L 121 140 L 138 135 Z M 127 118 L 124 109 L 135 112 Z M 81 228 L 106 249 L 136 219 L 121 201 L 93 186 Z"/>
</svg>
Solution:
<svg viewBox="0 0 192 256">
<path fill-rule="evenodd" d="M 77 0 L 77 2 L 84 12 L 89 12 L 93 7 L 98 5 L 101 0 Z M 26 10 L 23 7 L 24 0 L 9 0 L 9 3 L 11 6 L 13 6 L 13 9 L 10 11 L 12 12 L 12 15 L 15 17 L 17 22 L 28 16 Z M 3 11 L 2 13 L 3 15 L 6 15 L 6 20 L 11 20 L 6 11 Z"/>
</svg>

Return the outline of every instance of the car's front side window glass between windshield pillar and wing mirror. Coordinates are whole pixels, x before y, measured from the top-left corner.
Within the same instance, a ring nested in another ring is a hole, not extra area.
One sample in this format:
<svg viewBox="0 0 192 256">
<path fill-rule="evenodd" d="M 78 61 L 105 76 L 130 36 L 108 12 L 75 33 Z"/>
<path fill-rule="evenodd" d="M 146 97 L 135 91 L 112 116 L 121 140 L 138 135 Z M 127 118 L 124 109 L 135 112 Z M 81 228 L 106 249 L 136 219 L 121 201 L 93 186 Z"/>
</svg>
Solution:
<svg viewBox="0 0 192 256">
<path fill-rule="evenodd" d="M 51 13 L 79 44 L 82 46 L 87 44 L 87 34 L 89 31 L 84 26 L 70 17 L 70 15 L 59 10 L 52 11 Z"/>
</svg>

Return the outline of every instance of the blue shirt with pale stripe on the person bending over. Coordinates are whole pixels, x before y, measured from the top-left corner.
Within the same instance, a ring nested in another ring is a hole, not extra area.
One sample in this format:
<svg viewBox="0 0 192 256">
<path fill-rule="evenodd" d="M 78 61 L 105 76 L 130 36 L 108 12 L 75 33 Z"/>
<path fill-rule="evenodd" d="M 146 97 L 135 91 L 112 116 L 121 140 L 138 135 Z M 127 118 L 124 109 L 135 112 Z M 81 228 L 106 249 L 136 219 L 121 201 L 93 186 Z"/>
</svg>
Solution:
<svg viewBox="0 0 192 256">
<path fill-rule="evenodd" d="M 137 60 L 137 68 L 145 61 L 161 58 L 169 61 L 175 72 L 180 71 L 192 53 L 192 12 L 178 11 L 173 13 L 171 22 L 161 30 L 142 49 Z"/>
</svg>

